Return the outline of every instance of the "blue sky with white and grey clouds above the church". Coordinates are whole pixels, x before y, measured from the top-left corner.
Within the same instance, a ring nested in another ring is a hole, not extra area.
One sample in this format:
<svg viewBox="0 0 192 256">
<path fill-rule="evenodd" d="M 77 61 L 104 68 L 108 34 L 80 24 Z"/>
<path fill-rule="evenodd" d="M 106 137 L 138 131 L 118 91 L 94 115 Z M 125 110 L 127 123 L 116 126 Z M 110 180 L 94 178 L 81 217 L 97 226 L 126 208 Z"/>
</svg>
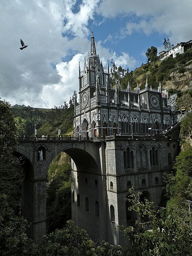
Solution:
<svg viewBox="0 0 192 256">
<path fill-rule="evenodd" d="M 1 0 L 0 97 L 54 108 L 78 92 L 93 28 L 103 66 L 134 70 L 146 51 L 192 39 L 192 0 Z M 28 45 L 20 50 L 20 38 Z"/>
</svg>

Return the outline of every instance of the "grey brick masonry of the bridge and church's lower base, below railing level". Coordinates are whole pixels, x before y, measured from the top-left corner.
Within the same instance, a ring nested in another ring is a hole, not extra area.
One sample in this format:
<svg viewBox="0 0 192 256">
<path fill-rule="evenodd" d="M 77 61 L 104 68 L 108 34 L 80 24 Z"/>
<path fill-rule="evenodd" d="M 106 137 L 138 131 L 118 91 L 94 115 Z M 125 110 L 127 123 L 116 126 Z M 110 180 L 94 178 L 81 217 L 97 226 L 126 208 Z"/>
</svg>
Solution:
<svg viewBox="0 0 192 256">
<path fill-rule="evenodd" d="M 124 151 L 129 147 L 134 156 L 134 168 L 124 168 Z M 150 150 L 157 150 L 158 165 L 150 165 Z M 44 160 L 39 160 L 38 150 L 43 148 Z M 30 237 L 39 242 L 46 234 L 46 176 L 48 166 L 60 152 L 72 157 L 72 220 L 87 230 L 93 240 L 106 240 L 112 244 L 126 244 L 118 225 L 126 226 L 127 182 L 136 192 L 144 192 L 155 205 L 160 203 L 162 174 L 171 170 L 168 153 L 172 161 L 178 152 L 178 140 L 120 139 L 102 142 L 21 142 L 18 154 L 26 156 L 27 178 L 22 190 L 22 214 L 32 222 L 28 230 Z M 30 168 L 28 169 L 28 166 Z M 158 178 L 158 183 L 156 182 Z M 142 180 L 145 179 L 145 184 Z M 96 183 L 97 180 L 97 183 Z M 111 183 L 112 182 L 112 183 Z M 80 206 L 77 206 L 77 195 Z M 88 198 L 88 210 L 86 210 Z M 96 201 L 99 216 L 96 213 Z M 111 221 L 110 206 L 114 207 L 115 220 Z M 136 218 L 136 216 L 133 216 Z"/>
</svg>

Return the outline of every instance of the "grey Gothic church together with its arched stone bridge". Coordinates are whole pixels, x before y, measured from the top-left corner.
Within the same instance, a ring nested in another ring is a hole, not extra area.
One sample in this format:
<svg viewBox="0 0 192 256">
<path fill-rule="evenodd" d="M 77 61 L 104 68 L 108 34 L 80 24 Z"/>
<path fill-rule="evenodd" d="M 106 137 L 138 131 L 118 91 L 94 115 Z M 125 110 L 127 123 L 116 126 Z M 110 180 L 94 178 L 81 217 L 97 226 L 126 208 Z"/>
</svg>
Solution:
<svg viewBox="0 0 192 256">
<path fill-rule="evenodd" d="M 96 55 L 92 34 L 90 54 L 79 69 L 80 103 L 75 102 L 70 138 L 18 138 L 15 155 L 23 163 L 22 215 L 32 223 L 28 235 L 40 242 L 46 234 L 46 179 L 60 152 L 72 158 L 72 220 L 93 240 L 126 244 L 118 225 L 131 225 L 129 188 L 141 191 L 156 205 L 162 194 L 162 174 L 172 169 L 178 152 L 179 122 L 175 122 L 161 86 L 154 90 L 120 89 L 109 84 Z M 41 155 L 40 155 L 41 152 Z"/>
</svg>

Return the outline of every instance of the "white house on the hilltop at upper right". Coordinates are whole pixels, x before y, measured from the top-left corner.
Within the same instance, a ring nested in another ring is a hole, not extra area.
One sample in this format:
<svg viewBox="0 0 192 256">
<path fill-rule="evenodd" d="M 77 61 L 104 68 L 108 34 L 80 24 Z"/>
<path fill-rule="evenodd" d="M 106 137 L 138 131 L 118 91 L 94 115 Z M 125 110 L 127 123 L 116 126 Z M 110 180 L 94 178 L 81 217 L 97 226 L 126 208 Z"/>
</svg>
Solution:
<svg viewBox="0 0 192 256">
<path fill-rule="evenodd" d="M 168 57 L 175 58 L 176 54 L 182 54 L 190 49 L 192 49 L 192 40 L 188 42 L 180 42 L 169 51 L 159 52 L 160 60 L 164 60 Z"/>
</svg>

